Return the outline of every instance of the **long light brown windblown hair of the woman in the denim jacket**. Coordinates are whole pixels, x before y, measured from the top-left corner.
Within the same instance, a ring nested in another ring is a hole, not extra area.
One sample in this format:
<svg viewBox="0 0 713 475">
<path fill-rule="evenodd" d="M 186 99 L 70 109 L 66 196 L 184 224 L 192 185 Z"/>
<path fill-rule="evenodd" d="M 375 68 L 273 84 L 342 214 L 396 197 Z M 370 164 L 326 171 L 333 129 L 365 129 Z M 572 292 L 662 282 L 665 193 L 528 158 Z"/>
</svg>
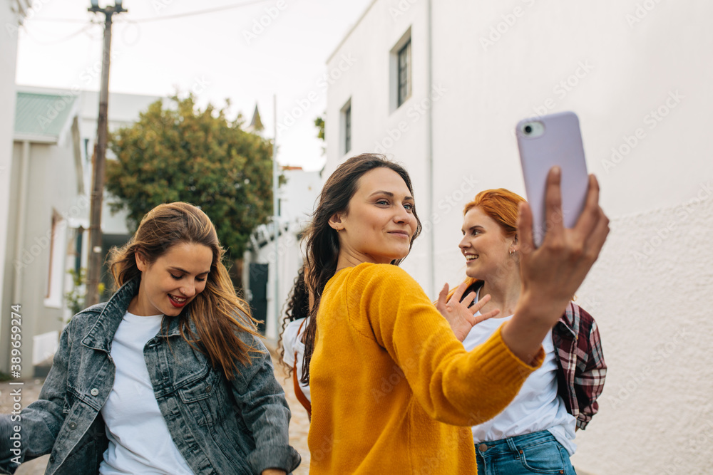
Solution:
<svg viewBox="0 0 713 475">
<path fill-rule="evenodd" d="M 250 353 L 262 353 L 244 343 L 238 334 L 260 335 L 256 331 L 257 320 L 250 315 L 247 303 L 235 294 L 222 263 L 225 250 L 220 246 L 215 226 L 204 212 L 182 202 L 159 204 L 148 212 L 128 243 L 111 250 L 109 269 L 114 285 L 118 289 L 133 278 L 141 278 L 141 271 L 136 266 L 137 252 L 153 264 L 173 246 L 183 243 L 207 246 L 213 257 L 205 289 L 176 317 L 180 319 L 180 335 L 193 348 L 207 355 L 213 367 L 220 367 L 228 380 L 232 380 L 238 363 L 247 365 Z M 189 314 L 197 335 L 188 325 Z"/>
</svg>

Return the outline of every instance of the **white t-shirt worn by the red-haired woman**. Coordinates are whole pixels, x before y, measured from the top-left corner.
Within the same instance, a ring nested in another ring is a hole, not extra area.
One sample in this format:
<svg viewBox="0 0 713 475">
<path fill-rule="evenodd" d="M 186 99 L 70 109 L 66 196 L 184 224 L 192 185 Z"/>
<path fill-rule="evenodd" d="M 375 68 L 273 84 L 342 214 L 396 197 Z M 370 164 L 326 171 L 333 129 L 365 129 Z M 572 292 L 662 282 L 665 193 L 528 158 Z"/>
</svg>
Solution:
<svg viewBox="0 0 713 475">
<path fill-rule="evenodd" d="M 463 340 L 463 347 L 471 351 L 481 343 L 485 343 L 503 323 L 511 318 L 513 315 L 505 318 L 490 318 L 478 323 Z M 567 449 L 570 456 L 575 453 L 577 445 L 573 440 L 576 420 L 567 412 L 565 402 L 557 394 L 557 361 L 552 343 L 552 330 L 545 336 L 542 345 L 545 350 L 542 366 L 528 376 L 518 395 L 503 412 L 483 424 L 472 427 L 473 442 L 476 444 L 492 442 L 548 430 Z"/>
</svg>

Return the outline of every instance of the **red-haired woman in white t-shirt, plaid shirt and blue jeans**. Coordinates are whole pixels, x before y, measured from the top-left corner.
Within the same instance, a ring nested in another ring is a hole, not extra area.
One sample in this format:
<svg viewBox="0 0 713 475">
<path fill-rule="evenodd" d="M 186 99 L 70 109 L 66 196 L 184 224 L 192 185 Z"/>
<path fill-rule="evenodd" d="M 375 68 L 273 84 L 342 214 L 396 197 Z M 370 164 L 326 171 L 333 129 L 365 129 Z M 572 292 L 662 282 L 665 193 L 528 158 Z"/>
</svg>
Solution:
<svg viewBox="0 0 713 475">
<path fill-rule="evenodd" d="M 507 189 L 490 189 L 463 210 L 459 247 L 468 291 L 491 296 L 481 312 L 502 310 L 470 330 L 466 350 L 488 340 L 515 313 L 522 288 L 518 206 L 524 201 Z M 570 302 L 542 345 L 545 360 L 515 399 L 472 428 L 478 474 L 575 473 L 575 429 L 584 429 L 597 412 L 607 372 L 599 330 L 589 313 Z"/>
</svg>

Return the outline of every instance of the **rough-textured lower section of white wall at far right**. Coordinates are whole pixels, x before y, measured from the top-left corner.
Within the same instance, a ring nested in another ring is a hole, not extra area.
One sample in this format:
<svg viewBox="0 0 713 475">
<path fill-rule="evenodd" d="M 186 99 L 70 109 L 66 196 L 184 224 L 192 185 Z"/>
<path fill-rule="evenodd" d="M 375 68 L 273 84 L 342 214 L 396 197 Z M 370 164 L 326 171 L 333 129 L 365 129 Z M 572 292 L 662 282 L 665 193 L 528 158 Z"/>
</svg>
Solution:
<svg viewBox="0 0 713 475">
<path fill-rule="evenodd" d="M 713 188 L 620 216 L 578 292 L 597 318 L 607 384 L 575 466 L 592 474 L 710 474 Z"/>
</svg>

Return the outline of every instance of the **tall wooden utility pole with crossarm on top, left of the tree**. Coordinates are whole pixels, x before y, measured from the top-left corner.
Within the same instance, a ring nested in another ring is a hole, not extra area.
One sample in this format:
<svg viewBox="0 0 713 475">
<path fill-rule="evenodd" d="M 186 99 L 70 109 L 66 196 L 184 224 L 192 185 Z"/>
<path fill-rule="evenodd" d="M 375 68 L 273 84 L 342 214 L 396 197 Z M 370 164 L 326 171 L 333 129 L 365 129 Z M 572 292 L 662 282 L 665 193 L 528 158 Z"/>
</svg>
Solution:
<svg viewBox="0 0 713 475">
<path fill-rule="evenodd" d="M 99 118 L 97 120 L 96 145 L 94 146 L 94 170 L 91 193 L 91 215 L 89 218 L 89 270 L 87 273 L 87 295 L 85 306 L 99 303 L 99 281 L 103 254 L 101 252 L 101 202 L 104 192 L 104 169 L 106 162 L 106 144 L 109 135 L 108 103 L 109 103 L 109 61 L 111 52 L 111 17 L 127 10 L 121 6 L 122 0 L 116 0 L 116 5 L 99 8 L 99 0 L 91 0 L 94 13 L 104 14 L 104 44 L 101 59 L 101 90 L 99 92 Z"/>
</svg>

